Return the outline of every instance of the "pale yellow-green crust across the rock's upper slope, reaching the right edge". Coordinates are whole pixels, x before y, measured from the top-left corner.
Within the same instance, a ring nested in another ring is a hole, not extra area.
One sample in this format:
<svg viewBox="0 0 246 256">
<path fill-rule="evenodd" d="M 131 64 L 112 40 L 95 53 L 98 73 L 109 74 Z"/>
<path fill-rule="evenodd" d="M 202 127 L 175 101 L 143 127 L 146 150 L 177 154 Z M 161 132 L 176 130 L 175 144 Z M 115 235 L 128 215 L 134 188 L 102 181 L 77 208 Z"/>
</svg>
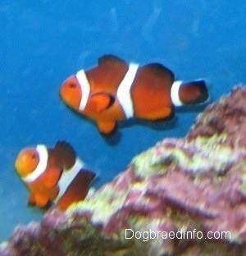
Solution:
<svg viewBox="0 0 246 256">
<path fill-rule="evenodd" d="M 221 174 L 238 157 L 238 152 L 226 144 L 226 139 L 226 134 L 197 137 L 192 141 L 177 139 L 177 145 L 172 147 L 165 145 L 164 140 L 156 148 L 139 154 L 131 163 L 135 173 L 144 178 L 166 174 L 171 166 L 194 173 L 214 171 Z"/>
</svg>

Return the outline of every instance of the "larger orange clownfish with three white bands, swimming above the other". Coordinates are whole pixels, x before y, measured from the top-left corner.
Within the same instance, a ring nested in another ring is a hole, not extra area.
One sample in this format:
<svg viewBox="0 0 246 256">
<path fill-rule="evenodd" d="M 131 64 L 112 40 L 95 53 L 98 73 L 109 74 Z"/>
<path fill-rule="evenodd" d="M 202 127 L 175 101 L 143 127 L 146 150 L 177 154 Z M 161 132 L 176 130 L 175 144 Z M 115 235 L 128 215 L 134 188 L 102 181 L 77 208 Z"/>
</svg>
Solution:
<svg viewBox="0 0 246 256">
<path fill-rule="evenodd" d="M 98 58 L 98 66 L 66 79 L 60 97 L 68 107 L 96 121 L 101 133 L 109 134 L 117 121 L 170 118 L 174 106 L 203 103 L 208 93 L 205 80 L 175 80 L 162 64 L 139 66 L 104 55 Z"/>
</svg>

